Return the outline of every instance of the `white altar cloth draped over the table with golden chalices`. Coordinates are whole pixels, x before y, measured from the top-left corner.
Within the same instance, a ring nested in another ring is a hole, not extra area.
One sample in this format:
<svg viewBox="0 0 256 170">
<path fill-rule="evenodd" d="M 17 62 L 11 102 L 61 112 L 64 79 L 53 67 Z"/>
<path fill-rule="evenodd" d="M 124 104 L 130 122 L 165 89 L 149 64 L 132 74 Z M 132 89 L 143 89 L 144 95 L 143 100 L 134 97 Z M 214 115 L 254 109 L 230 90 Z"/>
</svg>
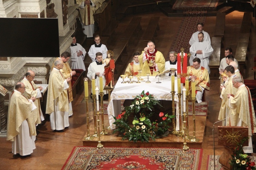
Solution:
<svg viewBox="0 0 256 170">
<path fill-rule="evenodd" d="M 146 83 L 147 77 L 142 77 L 141 83 L 136 83 L 137 78 L 133 77 L 131 81 L 133 82 L 132 84 L 129 84 L 128 82 L 130 81 L 128 78 L 125 78 L 124 81 L 126 83 L 122 83 L 123 79 L 119 78 L 113 91 L 110 96 L 110 101 L 108 105 L 108 115 L 109 115 L 109 124 L 111 130 L 115 129 L 115 125 L 113 122 L 115 122 L 115 119 L 113 116 L 118 116 L 121 112 L 121 100 L 123 99 L 134 99 L 137 95 L 140 95 L 141 92 L 144 90 L 145 92 L 149 92 L 150 94 L 154 95 L 157 97 L 158 100 L 172 100 L 172 94 L 171 94 L 171 77 L 166 76 L 164 78 L 159 78 L 159 81 L 161 83 L 156 83 L 158 82 L 158 78 L 154 76 L 149 77 L 149 81 L 151 83 Z M 174 95 L 174 100 L 178 101 L 177 97 L 177 78 L 175 77 L 175 95 Z M 181 88 L 182 84 L 181 84 Z M 182 103 L 182 102 L 181 102 Z M 170 103 L 171 104 L 171 103 Z M 178 106 L 178 104 L 177 104 Z M 176 109 L 178 111 L 178 109 Z M 176 130 L 179 128 L 179 116 L 176 116 Z M 179 130 L 179 129 L 178 129 Z"/>
</svg>

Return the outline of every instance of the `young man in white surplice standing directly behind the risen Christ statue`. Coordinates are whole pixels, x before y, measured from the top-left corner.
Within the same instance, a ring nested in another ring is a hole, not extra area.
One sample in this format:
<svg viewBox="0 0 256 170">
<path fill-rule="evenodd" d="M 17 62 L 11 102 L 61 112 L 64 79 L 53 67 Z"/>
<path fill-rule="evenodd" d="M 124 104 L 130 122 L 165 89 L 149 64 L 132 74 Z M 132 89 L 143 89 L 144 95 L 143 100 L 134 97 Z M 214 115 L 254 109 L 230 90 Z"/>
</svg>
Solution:
<svg viewBox="0 0 256 170">
<path fill-rule="evenodd" d="M 88 73 L 87 73 L 87 77 L 92 80 L 92 77 L 95 76 L 95 86 L 98 86 L 100 88 L 100 74 L 102 74 L 103 77 L 103 81 L 102 81 L 102 85 L 103 87 L 105 86 L 105 77 L 104 77 L 104 66 L 106 65 L 106 63 L 102 64 L 102 53 L 101 52 L 97 52 L 96 53 L 96 61 L 91 63 L 88 67 Z M 95 87 L 91 87 L 91 88 L 95 88 Z M 91 90 L 91 92 L 93 92 L 93 90 Z M 103 91 L 104 94 L 106 94 L 106 91 Z"/>
</svg>

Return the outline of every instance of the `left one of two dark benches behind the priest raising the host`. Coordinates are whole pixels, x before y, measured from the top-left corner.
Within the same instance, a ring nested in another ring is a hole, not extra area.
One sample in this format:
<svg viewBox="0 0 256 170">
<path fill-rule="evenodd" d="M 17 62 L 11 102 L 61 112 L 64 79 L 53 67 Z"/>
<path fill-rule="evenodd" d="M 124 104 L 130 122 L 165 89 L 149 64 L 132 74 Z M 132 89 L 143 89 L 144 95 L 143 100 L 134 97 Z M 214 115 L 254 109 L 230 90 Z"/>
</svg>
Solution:
<svg viewBox="0 0 256 170">
<path fill-rule="evenodd" d="M 124 33 L 121 35 L 121 41 L 129 41 L 129 43 L 133 43 L 133 36 L 137 36 L 137 30 L 141 30 L 140 25 L 141 17 L 133 17 Z"/>
</svg>

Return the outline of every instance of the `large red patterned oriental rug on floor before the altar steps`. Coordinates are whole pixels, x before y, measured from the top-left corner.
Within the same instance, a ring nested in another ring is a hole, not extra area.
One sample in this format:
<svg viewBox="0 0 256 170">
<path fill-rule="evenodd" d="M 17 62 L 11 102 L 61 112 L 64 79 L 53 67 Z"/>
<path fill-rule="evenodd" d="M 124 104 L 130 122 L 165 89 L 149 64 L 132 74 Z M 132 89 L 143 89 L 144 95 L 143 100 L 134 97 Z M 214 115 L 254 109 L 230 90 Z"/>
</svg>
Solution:
<svg viewBox="0 0 256 170">
<path fill-rule="evenodd" d="M 74 147 L 62 170 L 198 170 L 202 149 Z"/>
</svg>

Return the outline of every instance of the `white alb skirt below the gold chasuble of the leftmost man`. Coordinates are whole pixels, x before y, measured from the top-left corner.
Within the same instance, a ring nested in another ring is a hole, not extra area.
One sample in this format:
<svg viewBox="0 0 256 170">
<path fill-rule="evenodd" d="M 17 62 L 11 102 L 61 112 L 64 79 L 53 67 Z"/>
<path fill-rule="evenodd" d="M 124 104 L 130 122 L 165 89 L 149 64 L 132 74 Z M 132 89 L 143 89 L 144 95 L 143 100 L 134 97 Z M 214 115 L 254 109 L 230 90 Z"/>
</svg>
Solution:
<svg viewBox="0 0 256 170">
<path fill-rule="evenodd" d="M 30 136 L 27 119 L 19 126 L 19 132 L 12 142 L 12 153 L 21 156 L 30 155 L 35 149 L 35 136 Z"/>
</svg>

